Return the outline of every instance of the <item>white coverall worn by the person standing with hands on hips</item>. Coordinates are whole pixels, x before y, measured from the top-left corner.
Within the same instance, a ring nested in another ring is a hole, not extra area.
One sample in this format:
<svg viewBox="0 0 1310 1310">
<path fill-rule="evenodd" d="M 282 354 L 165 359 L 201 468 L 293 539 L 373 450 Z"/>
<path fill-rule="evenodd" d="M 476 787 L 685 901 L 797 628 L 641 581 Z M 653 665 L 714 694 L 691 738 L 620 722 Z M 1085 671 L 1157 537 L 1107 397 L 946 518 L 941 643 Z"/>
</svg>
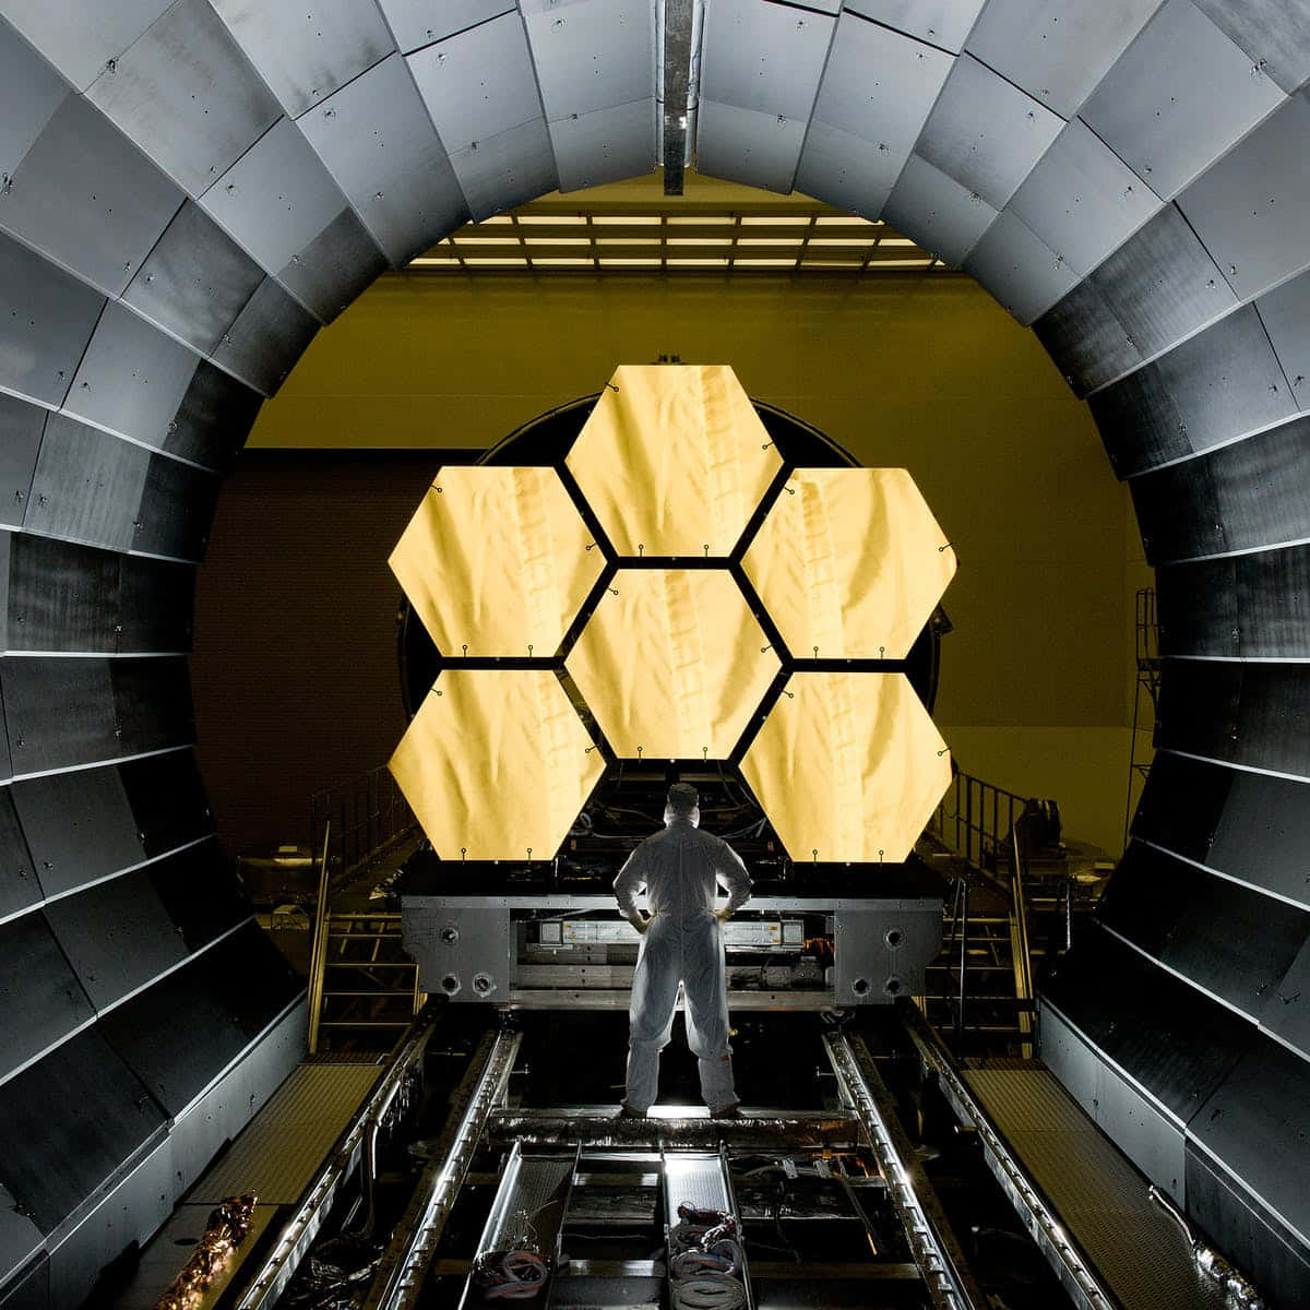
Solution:
<svg viewBox="0 0 1310 1310">
<path fill-rule="evenodd" d="M 686 998 L 686 1044 L 697 1057 L 701 1095 L 710 1112 L 736 1104 L 728 1047 L 728 989 L 722 925 L 714 897 L 722 882 L 731 913 L 751 896 L 741 857 L 720 837 L 701 832 L 698 811 L 665 810 L 663 832 L 647 837 L 614 879 L 624 917 L 639 918 L 645 887 L 652 918 L 642 935 L 627 1011 L 629 1107 L 645 1114 L 659 1087 L 659 1053 L 673 1030 L 677 984 Z"/>
</svg>

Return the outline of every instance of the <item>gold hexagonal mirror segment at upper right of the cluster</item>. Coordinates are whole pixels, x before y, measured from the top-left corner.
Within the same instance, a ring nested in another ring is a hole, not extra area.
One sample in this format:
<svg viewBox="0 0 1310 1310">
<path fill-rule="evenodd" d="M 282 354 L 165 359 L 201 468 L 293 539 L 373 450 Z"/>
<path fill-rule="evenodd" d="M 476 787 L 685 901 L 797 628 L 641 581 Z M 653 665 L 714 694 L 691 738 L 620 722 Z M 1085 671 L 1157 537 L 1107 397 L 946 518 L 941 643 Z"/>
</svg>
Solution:
<svg viewBox="0 0 1310 1310">
<path fill-rule="evenodd" d="M 904 659 L 955 576 L 905 469 L 796 469 L 741 563 L 796 659 Z"/>
</svg>

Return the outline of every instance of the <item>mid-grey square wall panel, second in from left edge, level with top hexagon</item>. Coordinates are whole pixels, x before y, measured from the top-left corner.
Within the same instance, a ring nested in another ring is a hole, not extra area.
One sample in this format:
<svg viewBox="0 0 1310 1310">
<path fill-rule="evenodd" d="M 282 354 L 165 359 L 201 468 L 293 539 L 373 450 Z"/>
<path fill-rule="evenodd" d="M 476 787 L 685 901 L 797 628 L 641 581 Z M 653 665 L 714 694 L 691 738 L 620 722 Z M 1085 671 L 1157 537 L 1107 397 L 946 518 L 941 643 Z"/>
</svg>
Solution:
<svg viewBox="0 0 1310 1310">
<path fill-rule="evenodd" d="M 151 455 L 62 414 L 46 421 L 24 527 L 127 550 Z"/>
</svg>

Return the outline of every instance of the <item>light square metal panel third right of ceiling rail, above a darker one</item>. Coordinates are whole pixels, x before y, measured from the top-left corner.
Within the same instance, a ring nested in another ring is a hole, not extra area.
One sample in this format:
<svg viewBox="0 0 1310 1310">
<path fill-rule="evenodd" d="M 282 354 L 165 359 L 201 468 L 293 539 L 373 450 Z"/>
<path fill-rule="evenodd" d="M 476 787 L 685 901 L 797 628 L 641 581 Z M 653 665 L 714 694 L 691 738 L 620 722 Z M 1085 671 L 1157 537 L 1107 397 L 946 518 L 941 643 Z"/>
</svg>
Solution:
<svg viewBox="0 0 1310 1310">
<path fill-rule="evenodd" d="M 1064 126 L 1058 114 L 965 54 L 955 60 L 914 149 L 1001 210 Z"/>
</svg>

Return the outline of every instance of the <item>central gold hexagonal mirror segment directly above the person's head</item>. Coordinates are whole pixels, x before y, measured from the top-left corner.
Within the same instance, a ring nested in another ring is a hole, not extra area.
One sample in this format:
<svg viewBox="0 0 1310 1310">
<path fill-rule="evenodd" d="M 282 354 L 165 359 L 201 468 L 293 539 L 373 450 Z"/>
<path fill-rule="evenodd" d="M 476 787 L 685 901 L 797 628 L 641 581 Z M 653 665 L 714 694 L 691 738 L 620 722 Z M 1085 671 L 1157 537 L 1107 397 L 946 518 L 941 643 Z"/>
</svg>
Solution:
<svg viewBox="0 0 1310 1310">
<path fill-rule="evenodd" d="M 620 569 L 565 662 L 625 758 L 722 760 L 781 664 L 726 569 Z"/>
</svg>

